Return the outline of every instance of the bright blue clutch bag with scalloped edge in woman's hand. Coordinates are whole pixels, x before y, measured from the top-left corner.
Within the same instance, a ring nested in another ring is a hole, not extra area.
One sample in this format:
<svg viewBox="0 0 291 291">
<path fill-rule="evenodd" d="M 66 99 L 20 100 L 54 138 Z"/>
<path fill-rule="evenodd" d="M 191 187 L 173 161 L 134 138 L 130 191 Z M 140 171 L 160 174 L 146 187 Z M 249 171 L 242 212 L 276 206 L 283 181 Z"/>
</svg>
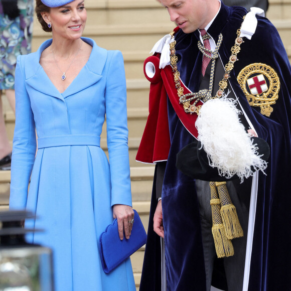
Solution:
<svg viewBox="0 0 291 291">
<path fill-rule="evenodd" d="M 131 254 L 145 244 L 147 233 L 141 223 L 140 217 L 134 211 L 134 222 L 129 239 L 120 240 L 118 235 L 117 219 L 109 224 L 100 235 L 100 256 L 105 273 L 109 273 Z"/>
</svg>

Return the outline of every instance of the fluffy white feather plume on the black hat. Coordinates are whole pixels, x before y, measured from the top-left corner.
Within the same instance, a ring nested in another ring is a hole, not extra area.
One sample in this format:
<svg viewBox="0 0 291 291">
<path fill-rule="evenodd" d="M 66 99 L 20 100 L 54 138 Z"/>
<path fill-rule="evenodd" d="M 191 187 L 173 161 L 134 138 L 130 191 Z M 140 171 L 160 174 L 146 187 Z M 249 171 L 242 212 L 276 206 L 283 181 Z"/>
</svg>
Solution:
<svg viewBox="0 0 291 291">
<path fill-rule="evenodd" d="M 200 109 L 196 127 L 209 165 L 217 168 L 220 176 L 229 179 L 236 174 L 242 182 L 257 170 L 263 172 L 267 163 L 258 156 L 252 135 L 239 122 L 241 112 L 235 102 L 225 97 L 207 101 Z"/>
</svg>

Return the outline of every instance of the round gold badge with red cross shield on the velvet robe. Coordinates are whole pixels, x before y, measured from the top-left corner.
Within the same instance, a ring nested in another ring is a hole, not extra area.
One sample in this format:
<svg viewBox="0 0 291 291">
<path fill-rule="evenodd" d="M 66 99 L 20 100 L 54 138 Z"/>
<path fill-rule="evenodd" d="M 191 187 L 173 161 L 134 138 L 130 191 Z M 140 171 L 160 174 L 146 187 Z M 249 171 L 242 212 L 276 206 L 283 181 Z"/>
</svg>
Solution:
<svg viewBox="0 0 291 291">
<path fill-rule="evenodd" d="M 280 90 L 280 80 L 273 68 L 262 63 L 244 67 L 237 76 L 250 106 L 259 106 L 261 114 L 270 116 Z"/>
</svg>

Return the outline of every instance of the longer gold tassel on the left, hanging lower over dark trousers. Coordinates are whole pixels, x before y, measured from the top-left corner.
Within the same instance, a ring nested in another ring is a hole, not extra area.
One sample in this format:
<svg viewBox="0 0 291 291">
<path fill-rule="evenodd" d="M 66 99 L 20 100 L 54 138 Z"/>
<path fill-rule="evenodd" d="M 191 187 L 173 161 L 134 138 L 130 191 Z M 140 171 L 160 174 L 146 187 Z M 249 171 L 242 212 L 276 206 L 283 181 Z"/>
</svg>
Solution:
<svg viewBox="0 0 291 291">
<path fill-rule="evenodd" d="M 220 214 L 220 200 L 216 191 L 215 182 L 210 182 L 211 210 L 212 210 L 212 235 L 214 238 L 216 254 L 219 258 L 228 257 L 234 254 L 231 240 L 226 237 L 225 227 Z"/>
</svg>

